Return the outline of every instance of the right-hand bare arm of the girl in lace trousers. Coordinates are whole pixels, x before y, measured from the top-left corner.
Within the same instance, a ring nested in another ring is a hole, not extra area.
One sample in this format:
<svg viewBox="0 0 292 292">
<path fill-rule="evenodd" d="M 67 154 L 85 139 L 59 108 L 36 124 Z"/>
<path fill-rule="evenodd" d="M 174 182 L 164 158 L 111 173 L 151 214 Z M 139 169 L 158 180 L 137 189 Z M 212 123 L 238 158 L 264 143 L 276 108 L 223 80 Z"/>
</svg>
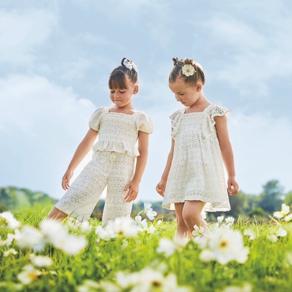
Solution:
<svg viewBox="0 0 292 292">
<path fill-rule="evenodd" d="M 125 191 L 129 190 L 125 200 L 127 202 L 134 201 L 137 198 L 139 191 L 139 184 L 143 175 L 143 172 L 146 167 L 147 158 L 148 158 L 148 143 L 149 143 L 149 134 L 139 131 L 138 138 L 138 150 L 140 155 L 137 156 L 135 174 L 133 179 L 126 185 Z"/>
</svg>

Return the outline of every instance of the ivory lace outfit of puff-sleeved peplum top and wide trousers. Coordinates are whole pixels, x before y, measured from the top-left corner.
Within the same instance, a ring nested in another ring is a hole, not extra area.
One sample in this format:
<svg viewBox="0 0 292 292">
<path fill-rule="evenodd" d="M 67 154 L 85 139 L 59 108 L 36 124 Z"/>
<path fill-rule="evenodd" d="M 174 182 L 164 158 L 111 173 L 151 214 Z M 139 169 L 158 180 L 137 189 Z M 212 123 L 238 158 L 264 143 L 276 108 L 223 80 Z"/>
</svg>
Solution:
<svg viewBox="0 0 292 292">
<path fill-rule="evenodd" d="M 77 222 L 88 220 L 107 186 L 102 225 L 120 216 L 130 216 L 133 202 L 124 199 L 125 186 L 133 179 L 138 132 L 151 134 L 153 124 L 142 111 L 133 115 L 109 113 L 108 107 L 95 110 L 89 127 L 98 131 L 92 160 L 84 167 L 55 207 Z"/>
</svg>

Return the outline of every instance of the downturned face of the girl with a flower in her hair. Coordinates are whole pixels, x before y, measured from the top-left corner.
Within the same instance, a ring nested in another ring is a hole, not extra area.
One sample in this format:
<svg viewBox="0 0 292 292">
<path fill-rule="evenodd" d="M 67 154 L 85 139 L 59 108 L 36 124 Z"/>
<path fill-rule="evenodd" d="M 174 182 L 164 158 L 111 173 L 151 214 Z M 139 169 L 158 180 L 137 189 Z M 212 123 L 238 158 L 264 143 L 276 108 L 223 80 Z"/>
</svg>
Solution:
<svg viewBox="0 0 292 292">
<path fill-rule="evenodd" d="M 176 79 L 173 83 L 168 83 L 170 90 L 175 94 L 175 99 L 185 107 L 192 106 L 200 97 L 201 86 L 186 86 L 182 79 Z"/>
</svg>

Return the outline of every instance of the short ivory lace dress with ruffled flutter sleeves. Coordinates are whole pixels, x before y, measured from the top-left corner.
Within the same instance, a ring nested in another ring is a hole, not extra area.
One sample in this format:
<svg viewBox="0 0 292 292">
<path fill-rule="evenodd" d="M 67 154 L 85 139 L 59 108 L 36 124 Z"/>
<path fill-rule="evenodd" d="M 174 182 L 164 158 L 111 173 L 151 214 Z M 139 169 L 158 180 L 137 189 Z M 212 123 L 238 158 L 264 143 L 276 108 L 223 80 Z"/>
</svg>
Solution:
<svg viewBox="0 0 292 292">
<path fill-rule="evenodd" d="M 174 112 L 171 133 L 175 140 L 162 207 L 174 203 L 207 202 L 205 211 L 229 211 L 225 173 L 215 128 L 215 116 L 230 115 L 225 107 L 211 104 L 203 112 Z"/>
</svg>

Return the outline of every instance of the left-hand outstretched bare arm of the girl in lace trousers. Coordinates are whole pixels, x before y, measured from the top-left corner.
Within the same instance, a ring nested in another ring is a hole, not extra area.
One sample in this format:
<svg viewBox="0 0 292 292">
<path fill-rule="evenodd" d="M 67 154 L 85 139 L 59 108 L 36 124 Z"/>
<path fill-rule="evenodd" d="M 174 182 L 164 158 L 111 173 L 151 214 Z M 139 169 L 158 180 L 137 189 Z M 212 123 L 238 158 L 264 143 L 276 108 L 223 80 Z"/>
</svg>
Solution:
<svg viewBox="0 0 292 292">
<path fill-rule="evenodd" d="M 98 131 L 95 131 L 92 128 L 89 128 L 87 134 L 85 135 L 81 143 L 78 145 L 73 155 L 73 158 L 71 162 L 69 163 L 67 171 L 65 172 L 62 178 L 62 188 L 64 190 L 69 189 L 70 187 L 69 181 L 72 178 L 74 169 L 77 167 L 77 165 L 81 162 L 81 160 L 85 157 L 85 155 L 91 149 L 97 135 L 98 135 Z"/>
</svg>

